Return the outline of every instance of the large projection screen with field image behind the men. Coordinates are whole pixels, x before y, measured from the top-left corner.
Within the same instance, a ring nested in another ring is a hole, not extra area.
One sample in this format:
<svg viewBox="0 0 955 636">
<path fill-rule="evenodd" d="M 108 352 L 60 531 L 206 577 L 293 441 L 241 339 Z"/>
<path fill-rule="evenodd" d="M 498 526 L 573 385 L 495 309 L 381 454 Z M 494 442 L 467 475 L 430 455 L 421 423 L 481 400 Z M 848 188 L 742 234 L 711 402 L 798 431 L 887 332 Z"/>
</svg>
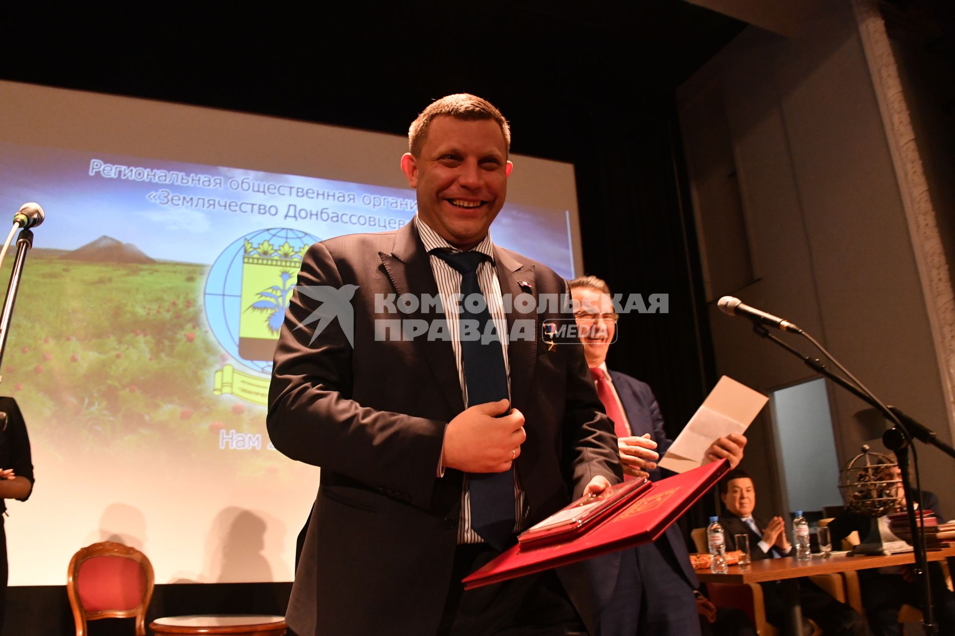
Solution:
<svg viewBox="0 0 955 636">
<path fill-rule="evenodd" d="M 157 583 L 290 581 L 319 470 L 269 444 L 272 349 L 310 244 L 414 215 L 406 139 L 9 82 L 0 103 L 0 218 L 47 213 L 0 384 L 36 476 L 11 585 L 62 585 L 105 540 Z M 512 159 L 495 241 L 581 272 L 572 166 Z"/>
</svg>

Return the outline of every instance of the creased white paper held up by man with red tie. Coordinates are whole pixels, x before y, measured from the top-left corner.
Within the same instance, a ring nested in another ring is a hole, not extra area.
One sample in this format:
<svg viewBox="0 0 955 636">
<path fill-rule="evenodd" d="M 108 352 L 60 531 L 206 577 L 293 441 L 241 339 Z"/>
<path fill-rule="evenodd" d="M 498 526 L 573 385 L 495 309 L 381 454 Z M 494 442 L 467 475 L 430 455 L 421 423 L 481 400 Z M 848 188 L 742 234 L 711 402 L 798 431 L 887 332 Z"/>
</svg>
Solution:
<svg viewBox="0 0 955 636">
<path fill-rule="evenodd" d="M 758 391 L 723 376 L 657 463 L 675 473 L 684 473 L 710 462 L 707 450 L 712 442 L 746 431 L 767 401 L 769 398 Z"/>
</svg>

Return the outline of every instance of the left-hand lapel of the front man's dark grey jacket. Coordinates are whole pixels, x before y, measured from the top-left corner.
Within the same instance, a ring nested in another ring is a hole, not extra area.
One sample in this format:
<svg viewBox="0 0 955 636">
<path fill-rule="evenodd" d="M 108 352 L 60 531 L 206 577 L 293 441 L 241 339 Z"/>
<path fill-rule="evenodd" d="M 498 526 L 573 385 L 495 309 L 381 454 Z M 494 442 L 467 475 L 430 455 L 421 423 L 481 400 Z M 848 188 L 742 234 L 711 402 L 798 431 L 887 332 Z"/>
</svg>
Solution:
<svg viewBox="0 0 955 636">
<path fill-rule="evenodd" d="M 437 283 L 431 270 L 430 256 L 424 251 L 424 244 L 414 229 L 414 223 L 406 223 L 394 236 L 392 254 L 379 252 L 381 262 L 392 280 L 394 291 L 398 296 L 402 294 L 437 296 Z M 420 297 L 420 296 L 418 296 Z M 443 320 L 444 314 L 424 314 L 420 308 L 411 316 L 399 315 L 401 318 L 427 320 Z M 457 375 L 455 350 L 450 340 L 428 339 L 421 335 L 410 343 L 419 348 L 428 360 L 435 383 L 448 401 L 450 413 L 454 417 L 464 410 L 464 398 L 461 395 L 461 384 Z"/>
</svg>

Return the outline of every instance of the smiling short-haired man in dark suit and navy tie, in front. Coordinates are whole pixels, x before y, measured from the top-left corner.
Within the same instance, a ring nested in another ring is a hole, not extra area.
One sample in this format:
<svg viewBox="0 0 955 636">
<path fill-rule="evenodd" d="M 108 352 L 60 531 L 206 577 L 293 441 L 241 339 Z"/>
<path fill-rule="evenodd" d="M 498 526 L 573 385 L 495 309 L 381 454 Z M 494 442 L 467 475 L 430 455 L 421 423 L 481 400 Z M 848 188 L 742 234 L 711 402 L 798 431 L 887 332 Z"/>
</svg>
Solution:
<svg viewBox="0 0 955 636">
<path fill-rule="evenodd" d="M 413 221 L 317 243 L 302 263 L 299 286 L 355 286 L 353 337 L 337 319 L 319 332 L 322 308 L 296 292 L 276 348 L 269 435 L 322 468 L 287 623 L 299 636 L 584 633 L 579 568 L 460 583 L 521 529 L 623 477 L 582 347 L 539 346 L 538 324 L 560 312 L 503 301 L 566 283 L 491 240 L 512 171 L 498 109 L 439 99 L 409 146 Z M 403 295 L 443 311 L 395 314 L 388 298 Z M 395 338 L 396 319 L 427 333 Z"/>
</svg>

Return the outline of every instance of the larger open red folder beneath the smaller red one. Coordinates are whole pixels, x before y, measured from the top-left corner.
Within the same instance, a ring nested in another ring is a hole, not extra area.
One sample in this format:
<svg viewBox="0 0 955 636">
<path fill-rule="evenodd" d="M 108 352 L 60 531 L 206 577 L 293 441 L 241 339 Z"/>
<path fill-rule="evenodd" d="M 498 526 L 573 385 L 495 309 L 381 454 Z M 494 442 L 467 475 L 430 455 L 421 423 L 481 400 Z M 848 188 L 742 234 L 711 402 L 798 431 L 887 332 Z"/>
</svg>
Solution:
<svg viewBox="0 0 955 636">
<path fill-rule="evenodd" d="M 654 541 L 729 469 L 730 462 L 721 460 L 651 483 L 638 499 L 607 515 L 583 536 L 562 544 L 508 548 L 468 575 L 464 588 L 500 583 Z"/>
</svg>

